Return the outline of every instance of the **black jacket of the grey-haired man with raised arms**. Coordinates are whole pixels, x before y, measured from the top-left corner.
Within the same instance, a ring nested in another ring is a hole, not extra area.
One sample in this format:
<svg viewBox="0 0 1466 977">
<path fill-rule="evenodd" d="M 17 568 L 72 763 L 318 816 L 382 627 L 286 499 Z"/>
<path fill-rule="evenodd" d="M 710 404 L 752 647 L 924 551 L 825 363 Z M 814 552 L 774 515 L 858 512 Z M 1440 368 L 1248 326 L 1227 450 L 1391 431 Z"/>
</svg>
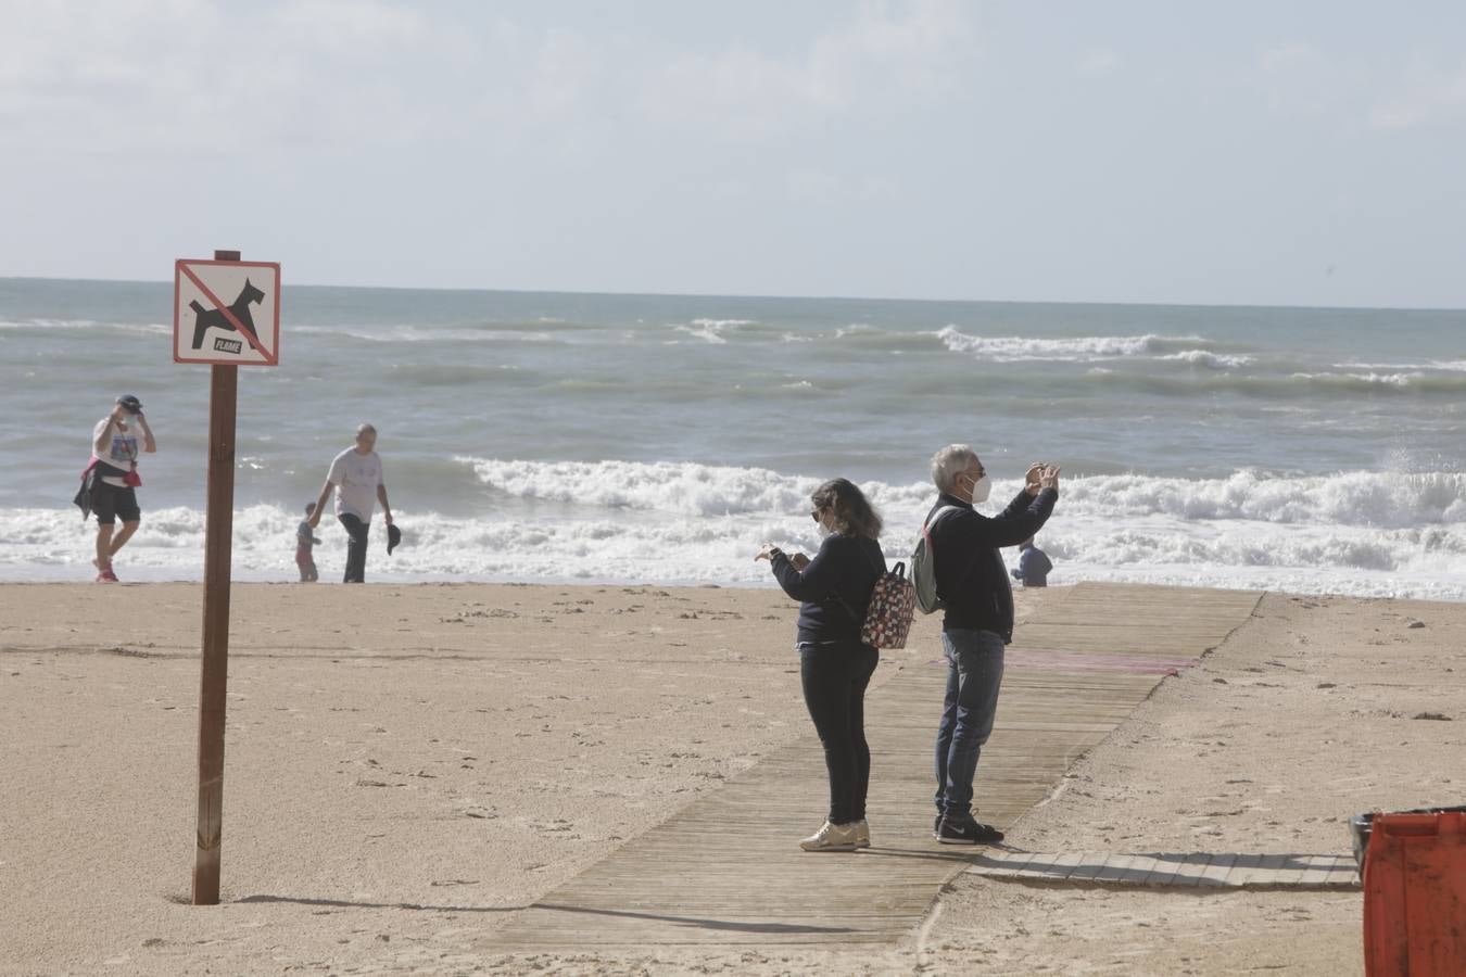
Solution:
<svg viewBox="0 0 1466 977">
<path fill-rule="evenodd" d="M 960 510 L 943 516 L 931 530 L 937 593 L 946 606 L 943 631 L 994 631 L 1004 642 L 1013 640 L 1013 587 L 998 546 L 1017 546 L 1042 529 L 1057 499 L 1058 489 L 1042 489 L 1036 497 L 1023 489 L 1000 516 L 988 519 L 956 495 L 937 497 L 928 520 L 943 505 Z"/>
</svg>

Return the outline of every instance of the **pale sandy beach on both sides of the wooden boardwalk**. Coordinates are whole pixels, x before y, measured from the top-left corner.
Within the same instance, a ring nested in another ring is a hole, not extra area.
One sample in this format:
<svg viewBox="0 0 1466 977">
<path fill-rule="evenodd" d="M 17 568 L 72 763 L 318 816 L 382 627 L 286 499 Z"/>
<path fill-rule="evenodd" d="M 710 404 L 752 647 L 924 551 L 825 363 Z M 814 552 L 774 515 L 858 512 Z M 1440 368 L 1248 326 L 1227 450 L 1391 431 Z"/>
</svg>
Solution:
<svg viewBox="0 0 1466 977">
<path fill-rule="evenodd" d="M 1063 593 L 1020 592 L 1022 620 Z M 199 598 L 0 586 L 0 973 L 1362 968 L 1358 891 L 972 873 L 890 948 L 494 952 L 523 907 L 808 734 L 795 606 L 756 589 L 236 584 L 223 901 L 192 907 Z M 871 696 L 937 649 L 918 621 Z M 1466 800 L 1463 649 L 1466 605 L 1267 595 L 1007 844 L 1347 852 L 1353 813 Z"/>
</svg>

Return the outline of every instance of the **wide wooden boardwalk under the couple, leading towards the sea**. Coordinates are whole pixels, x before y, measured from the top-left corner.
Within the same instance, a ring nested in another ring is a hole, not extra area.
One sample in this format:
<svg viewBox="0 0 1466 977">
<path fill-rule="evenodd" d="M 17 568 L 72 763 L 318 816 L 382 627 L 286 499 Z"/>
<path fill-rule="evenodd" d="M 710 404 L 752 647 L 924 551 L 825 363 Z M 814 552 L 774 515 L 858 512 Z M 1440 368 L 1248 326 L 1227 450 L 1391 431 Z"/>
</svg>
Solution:
<svg viewBox="0 0 1466 977">
<path fill-rule="evenodd" d="M 1009 647 L 997 727 L 982 750 L 976 803 L 998 826 L 1039 801 L 1167 672 L 1220 644 L 1261 595 L 1078 584 L 1050 598 Z M 808 854 L 796 845 L 828 803 L 811 728 L 547 894 L 488 943 L 770 946 L 893 943 L 907 935 L 941 886 L 988 850 L 931 836 L 946 664 L 937 647 L 896 656 L 899 674 L 866 699 L 869 850 Z"/>
</svg>

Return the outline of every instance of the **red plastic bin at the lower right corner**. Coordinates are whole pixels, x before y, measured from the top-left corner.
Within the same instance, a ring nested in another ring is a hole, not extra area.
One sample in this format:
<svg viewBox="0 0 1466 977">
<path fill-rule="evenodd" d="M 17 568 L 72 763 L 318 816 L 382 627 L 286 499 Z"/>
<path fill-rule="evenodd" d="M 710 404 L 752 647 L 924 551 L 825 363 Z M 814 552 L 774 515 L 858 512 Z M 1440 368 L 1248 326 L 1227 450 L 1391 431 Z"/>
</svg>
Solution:
<svg viewBox="0 0 1466 977">
<path fill-rule="evenodd" d="M 1466 811 L 1375 814 L 1365 851 L 1365 974 L 1466 974 Z"/>
</svg>

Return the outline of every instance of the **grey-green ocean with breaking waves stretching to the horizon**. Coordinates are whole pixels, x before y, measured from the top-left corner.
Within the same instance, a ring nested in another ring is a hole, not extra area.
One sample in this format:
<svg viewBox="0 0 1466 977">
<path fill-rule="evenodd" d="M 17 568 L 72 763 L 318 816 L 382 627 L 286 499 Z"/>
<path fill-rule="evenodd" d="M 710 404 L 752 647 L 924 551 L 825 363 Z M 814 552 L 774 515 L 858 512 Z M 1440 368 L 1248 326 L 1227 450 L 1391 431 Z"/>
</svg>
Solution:
<svg viewBox="0 0 1466 977">
<path fill-rule="evenodd" d="M 1466 599 L 1466 312 L 759 299 L 290 286 L 280 365 L 239 369 L 233 577 L 293 580 L 295 527 L 378 429 L 403 545 L 369 582 L 773 586 L 844 476 L 905 558 L 932 453 L 969 442 L 994 513 L 1063 466 L 1053 584 L 1132 580 Z M 126 580 L 199 580 L 208 368 L 172 360 L 172 283 L 0 278 L 0 580 L 89 580 L 70 499 L 132 393 Z M 317 562 L 339 580 L 345 532 Z M 1016 554 L 1010 561 L 1016 561 Z"/>
</svg>

